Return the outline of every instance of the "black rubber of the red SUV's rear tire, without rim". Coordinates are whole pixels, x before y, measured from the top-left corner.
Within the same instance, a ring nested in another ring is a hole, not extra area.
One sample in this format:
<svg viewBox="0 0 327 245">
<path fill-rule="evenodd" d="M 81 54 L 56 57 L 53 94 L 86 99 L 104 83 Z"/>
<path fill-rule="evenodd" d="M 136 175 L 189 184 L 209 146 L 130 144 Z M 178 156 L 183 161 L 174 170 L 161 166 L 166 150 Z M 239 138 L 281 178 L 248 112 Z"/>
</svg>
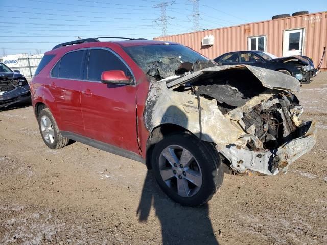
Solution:
<svg viewBox="0 0 327 245">
<path fill-rule="evenodd" d="M 49 118 L 49 120 L 51 122 L 52 129 L 54 131 L 53 142 L 51 142 L 50 140 L 46 140 L 43 136 L 42 129 L 41 129 L 41 119 L 43 116 L 46 116 L 47 118 Z M 59 148 L 66 146 L 69 143 L 69 139 L 65 138 L 61 135 L 58 125 L 57 125 L 57 122 L 48 108 L 44 108 L 40 111 L 39 116 L 38 116 L 38 123 L 39 123 L 39 130 L 40 130 L 42 139 L 43 139 L 44 143 L 46 144 L 46 146 L 48 146 L 49 148 L 59 149 Z"/>
</svg>

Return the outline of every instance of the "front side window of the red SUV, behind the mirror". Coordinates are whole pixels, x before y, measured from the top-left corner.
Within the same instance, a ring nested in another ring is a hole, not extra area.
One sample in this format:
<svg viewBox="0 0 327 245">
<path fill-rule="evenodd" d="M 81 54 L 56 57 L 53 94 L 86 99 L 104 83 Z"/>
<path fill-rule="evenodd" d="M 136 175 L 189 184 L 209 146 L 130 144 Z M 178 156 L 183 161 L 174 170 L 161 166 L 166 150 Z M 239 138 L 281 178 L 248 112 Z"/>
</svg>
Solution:
<svg viewBox="0 0 327 245">
<path fill-rule="evenodd" d="M 126 76 L 131 76 L 127 66 L 112 52 L 102 49 L 91 49 L 88 59 L 87 80 L 101 81 L 104 71 L 122 70 Z"/>
</svg>

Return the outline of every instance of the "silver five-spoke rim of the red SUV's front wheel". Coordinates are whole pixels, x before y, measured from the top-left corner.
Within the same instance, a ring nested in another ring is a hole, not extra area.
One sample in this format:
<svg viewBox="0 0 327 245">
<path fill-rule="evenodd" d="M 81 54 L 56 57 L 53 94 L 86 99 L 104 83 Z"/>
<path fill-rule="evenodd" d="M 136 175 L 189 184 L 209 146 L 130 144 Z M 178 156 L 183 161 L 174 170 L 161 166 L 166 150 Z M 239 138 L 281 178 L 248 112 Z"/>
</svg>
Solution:
<svg viewBox="0 0 327 245">
<path fill-rule="evenodd" d="M 182 146 L 170 145 L 161 152 L 159 171 L 166 185 L 181 197 L 192 197 L 202 186 L 199 163 Z"/>
</svg>

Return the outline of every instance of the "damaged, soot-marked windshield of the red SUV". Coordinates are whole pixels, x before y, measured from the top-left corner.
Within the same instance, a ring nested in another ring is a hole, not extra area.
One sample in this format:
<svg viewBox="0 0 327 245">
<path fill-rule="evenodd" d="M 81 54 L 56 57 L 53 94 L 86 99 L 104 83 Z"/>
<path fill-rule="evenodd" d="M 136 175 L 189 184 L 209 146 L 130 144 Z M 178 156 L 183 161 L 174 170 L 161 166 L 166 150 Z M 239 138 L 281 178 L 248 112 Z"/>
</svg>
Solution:
<svg viewBox="0 0 327 245">
<path fill-rule="evenodd" d="M 186 64 L 215 64 L 183 45 L 131 46 L 125 47 L 124 50 L 146 74 L 156 77 L 157 80 L 173 76 L 180 69 L 189 71 L 185 68 Z"/>
</svg>

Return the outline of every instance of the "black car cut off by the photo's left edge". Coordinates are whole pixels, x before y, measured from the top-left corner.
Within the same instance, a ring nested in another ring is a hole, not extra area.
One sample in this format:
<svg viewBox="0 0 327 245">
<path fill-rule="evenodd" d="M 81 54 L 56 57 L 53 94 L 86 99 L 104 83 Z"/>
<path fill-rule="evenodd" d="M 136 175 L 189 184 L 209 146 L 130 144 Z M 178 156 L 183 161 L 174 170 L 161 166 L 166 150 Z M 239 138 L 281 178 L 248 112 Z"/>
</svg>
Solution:
<svg viewBox="0 0 327 245">
<path fill-rule="evenodd" d="M 31 103 L 31 92 L 26 78 L 0 63 L 0 109 L 27 103 Z"/>
</svg>

